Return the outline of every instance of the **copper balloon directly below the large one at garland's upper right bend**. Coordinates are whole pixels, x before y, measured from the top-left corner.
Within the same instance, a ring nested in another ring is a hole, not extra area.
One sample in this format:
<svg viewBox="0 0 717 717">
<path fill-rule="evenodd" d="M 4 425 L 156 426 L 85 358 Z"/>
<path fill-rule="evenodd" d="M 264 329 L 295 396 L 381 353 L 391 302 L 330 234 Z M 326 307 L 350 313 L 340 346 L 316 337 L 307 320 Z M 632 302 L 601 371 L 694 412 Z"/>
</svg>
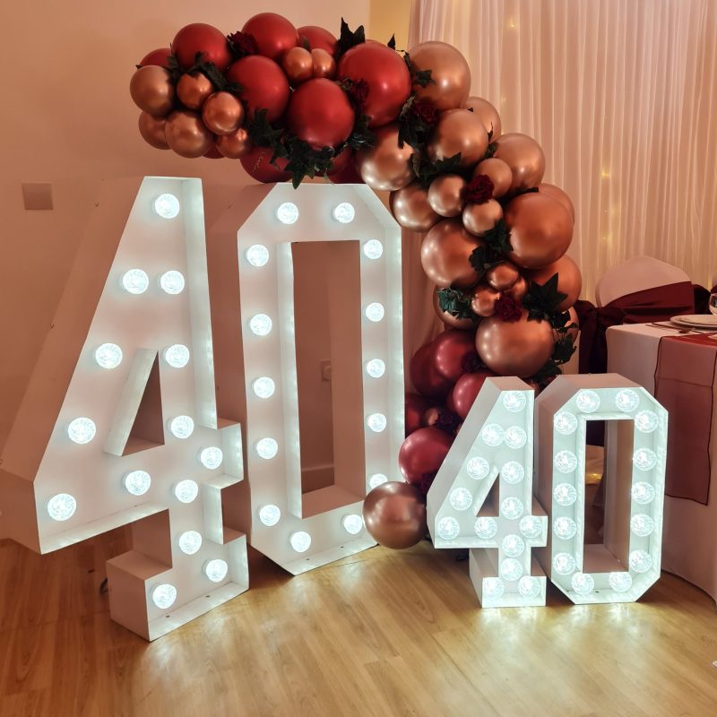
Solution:
<svg viewBox="0 0 717 717">
<path fill-rule="evenodd" d="M 447 160 L 461 152 L 461 167 L 472 167 L 484 157 L 487 149 L 486 128 L 479 117 L 467 109 L 443 112 L 426 145 L 428 158 L 433 162 Z"/>
</svg>

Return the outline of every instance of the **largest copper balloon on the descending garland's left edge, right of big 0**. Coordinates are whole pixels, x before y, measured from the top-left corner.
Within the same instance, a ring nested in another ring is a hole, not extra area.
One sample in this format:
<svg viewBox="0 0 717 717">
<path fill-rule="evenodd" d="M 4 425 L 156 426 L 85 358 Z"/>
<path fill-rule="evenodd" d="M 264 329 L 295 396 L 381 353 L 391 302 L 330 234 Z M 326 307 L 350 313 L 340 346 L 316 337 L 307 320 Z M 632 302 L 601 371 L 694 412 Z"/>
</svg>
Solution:
<svg viewBox="0 0 717 717">
<path fill-rule="evenodd" d="M 439 221 L 420 247 L 423 271 L 442 289 L 449 286 L 469 289 L 478 281 L 478 274 L 471 266 L 471 254 L 482 244 L 464 229 L 461 220 Z"/>
</svg>

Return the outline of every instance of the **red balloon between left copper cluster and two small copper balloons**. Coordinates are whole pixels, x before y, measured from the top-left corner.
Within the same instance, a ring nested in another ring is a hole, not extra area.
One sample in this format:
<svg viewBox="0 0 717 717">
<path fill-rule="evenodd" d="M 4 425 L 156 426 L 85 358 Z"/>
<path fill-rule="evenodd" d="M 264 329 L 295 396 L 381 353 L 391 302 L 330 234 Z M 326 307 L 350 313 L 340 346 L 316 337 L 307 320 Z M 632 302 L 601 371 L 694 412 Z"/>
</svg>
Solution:
<svg viewBox="0 0 717 717">
<path fill-rule="evenodd" d="M 229 82 L 237 82 L 239 97 L 246 106 L 246 116 L 254 119 L 259 109 L 268 110 L 267 122 L 275 122 L 289 103 L 289 80 L 279 65 L 268 57 L 249 55 L 229 67 Z"/>
</svg>

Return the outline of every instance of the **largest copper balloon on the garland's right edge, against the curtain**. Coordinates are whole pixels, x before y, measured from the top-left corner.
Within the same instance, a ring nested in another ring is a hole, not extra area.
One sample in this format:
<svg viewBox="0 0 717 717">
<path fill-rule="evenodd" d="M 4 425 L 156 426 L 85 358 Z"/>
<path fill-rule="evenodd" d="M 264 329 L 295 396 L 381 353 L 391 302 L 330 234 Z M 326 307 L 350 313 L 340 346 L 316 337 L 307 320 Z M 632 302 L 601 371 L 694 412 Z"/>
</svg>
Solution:
<svg viewBox="0 0 717 717">
<path fill-rule="evenodd" d="M 573 238 L 570 212 L 546 194 L 521 194 L 505 207 L 510 229 L 511 261 L 523 269 L 540 269 L 566 253 Z"/>
</svg>

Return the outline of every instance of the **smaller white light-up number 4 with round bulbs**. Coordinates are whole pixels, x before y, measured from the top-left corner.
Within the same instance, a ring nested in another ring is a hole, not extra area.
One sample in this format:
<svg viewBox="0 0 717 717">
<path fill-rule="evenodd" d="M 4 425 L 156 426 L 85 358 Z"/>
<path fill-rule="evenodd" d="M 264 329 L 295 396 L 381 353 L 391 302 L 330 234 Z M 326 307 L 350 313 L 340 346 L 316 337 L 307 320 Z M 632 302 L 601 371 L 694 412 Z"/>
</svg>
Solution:
<svg viewBox="0 0 717 717">
<path fill-rule="evenodd" d="M 471 548 L 484 608 L 545 605 L 545 575 L 531 556 L 548 526 L 532 498 L 533 403 L 519 378 L 488 378 L 428 491 L 433 544 Z"/>
</svg>

